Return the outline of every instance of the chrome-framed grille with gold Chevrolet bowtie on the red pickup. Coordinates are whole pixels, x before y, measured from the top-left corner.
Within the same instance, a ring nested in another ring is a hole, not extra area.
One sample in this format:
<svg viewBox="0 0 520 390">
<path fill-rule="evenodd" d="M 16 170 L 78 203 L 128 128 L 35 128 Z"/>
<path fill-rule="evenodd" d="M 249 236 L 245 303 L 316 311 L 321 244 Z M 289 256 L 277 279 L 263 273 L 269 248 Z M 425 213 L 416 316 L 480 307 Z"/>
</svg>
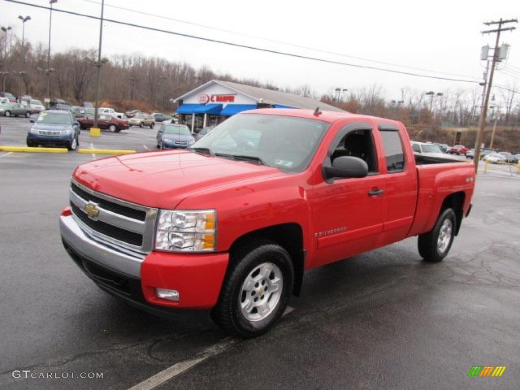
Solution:
<svg viewBox="0 0 520 390">
<path fill-rule="evenodd" d="M 110 197 L 75 180 L 69 197 L 74 219 L 92 239 L 128 254 L 151 252 L 157 209 Z"/>
</svg>

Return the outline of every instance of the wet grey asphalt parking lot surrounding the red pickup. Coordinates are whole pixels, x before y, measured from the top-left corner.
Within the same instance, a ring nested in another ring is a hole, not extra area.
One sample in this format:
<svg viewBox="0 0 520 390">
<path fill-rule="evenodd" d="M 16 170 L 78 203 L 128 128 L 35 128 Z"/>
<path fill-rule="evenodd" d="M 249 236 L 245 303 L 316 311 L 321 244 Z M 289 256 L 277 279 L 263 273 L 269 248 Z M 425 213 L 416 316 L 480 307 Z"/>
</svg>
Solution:
<svg viewBox="0 0 520 390">
<path fill-rule="evenodd" d="M 0 145 L 24 145 L 27 119 L 0 125 Z M 80 146 L 146 151 L 155 134 L 82 132 Z M 518 389 L 520 177 L 479 173 L 444 262 L 422 262 L 410 238 L 311 270 L 277 326 L 243 341 L 205 312 L 141 313 L 73 264 L 58 215 L 71 172 L 92 158 L 0 152 L 0 388 L 144 389 L 167 376 L 159 389 Z M 472 366 L 507 368 L 469 378 Z"/>
</svg>

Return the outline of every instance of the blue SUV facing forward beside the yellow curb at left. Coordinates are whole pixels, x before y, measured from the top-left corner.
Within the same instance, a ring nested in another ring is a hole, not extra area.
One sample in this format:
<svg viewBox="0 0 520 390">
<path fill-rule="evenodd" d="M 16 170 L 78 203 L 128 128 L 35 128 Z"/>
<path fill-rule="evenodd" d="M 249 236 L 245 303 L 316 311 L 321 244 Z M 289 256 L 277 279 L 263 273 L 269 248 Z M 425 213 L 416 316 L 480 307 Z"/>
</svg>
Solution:
<svg viewBox="0 0 520 390">
<path fill-rule="evenodd" d="M 63 145 L 76 150 L 80 144 L 80 124 L 68 111 L 45 110 L 38 115 L 27 134 L 27 146 Z"/>
</svg>

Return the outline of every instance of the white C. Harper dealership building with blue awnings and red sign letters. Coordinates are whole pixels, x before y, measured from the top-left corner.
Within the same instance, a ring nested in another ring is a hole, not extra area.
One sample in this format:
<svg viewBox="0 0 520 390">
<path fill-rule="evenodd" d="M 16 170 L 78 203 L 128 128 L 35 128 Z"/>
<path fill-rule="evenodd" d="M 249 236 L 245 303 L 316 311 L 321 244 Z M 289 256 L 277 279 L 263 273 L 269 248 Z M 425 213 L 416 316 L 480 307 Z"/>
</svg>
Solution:
<svg viewBox="0 0 520 390">
<path fill-rule="evenodd" d="M 287 94 L 279 90 L 212 80 L 174 99 L 179 103 L 179 123 L 192 132 L 215 126 L 232 115 L 256 108 L 303 108 L 342 111 L 319 100 Z"/>
</svg>

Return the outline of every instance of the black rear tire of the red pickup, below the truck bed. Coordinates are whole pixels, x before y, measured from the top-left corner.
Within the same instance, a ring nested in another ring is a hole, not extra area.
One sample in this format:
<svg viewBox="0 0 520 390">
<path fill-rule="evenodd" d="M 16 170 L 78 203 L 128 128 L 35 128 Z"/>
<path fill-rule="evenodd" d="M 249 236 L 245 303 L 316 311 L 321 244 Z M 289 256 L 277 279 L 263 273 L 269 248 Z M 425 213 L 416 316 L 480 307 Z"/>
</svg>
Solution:
<svg viewBox="0 0 520 390">
<path fill-rule="evenodd" d="M 449 221 L 451 224 L 445 224 L 445 221 Z M 449 237 L 446 236 L 448 239 L 447 245 L 444 248 L 442 248 L 444 245 L 441 245 L 441 248 L 439 248 L 439 235 L 444 234 L 443 229 L 447 229 L 447 225 L 450 225 Z M 445 258 L 450 251 L 456 231 L 457 217 L 455 212 L 453 209 L 444 209 L 437 218 L 437 222 L 435 223 L 433 229 L 427 233 L 419 235 L 418 248 L 421 257 L 425 261 L 432 263 L 438 263 L 442 261 L 442 259 Z"/>
</svg>

